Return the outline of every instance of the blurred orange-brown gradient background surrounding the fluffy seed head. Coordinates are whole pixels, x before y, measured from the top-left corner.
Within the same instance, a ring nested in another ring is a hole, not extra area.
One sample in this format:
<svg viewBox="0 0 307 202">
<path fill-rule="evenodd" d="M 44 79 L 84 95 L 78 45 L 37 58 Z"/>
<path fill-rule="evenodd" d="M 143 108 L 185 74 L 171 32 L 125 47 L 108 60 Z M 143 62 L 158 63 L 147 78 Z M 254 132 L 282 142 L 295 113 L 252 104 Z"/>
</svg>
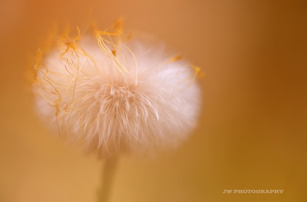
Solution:
<svg viewBox="0 0 307 202">
<path fill-rule="evenodd" d="M 307 0 L 0 0 L 0 202 L 96 202 L 102 164 L 41 125 L 26 67 L 55 25 L 118 17 L 206 76 L 195 132 L 121 158 L 111 202 L 307 201 Z"/>
</svg>

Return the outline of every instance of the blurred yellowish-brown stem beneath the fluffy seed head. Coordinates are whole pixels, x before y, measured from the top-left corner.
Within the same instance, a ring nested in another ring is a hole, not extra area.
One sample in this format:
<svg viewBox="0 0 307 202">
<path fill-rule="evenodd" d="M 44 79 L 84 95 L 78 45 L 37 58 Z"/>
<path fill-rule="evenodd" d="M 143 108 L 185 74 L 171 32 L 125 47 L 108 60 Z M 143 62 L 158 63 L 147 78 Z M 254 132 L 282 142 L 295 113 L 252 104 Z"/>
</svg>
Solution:
<svg viewBox="0 0 307 202">
<path fill-rule="evenodd" d="M 116 157 L 109 157 L 104 163 L 102 168 L 102 185 L 98 193 L 98 202 L 107 202 L 109 199 L 116 164 Z"/>
</svg>

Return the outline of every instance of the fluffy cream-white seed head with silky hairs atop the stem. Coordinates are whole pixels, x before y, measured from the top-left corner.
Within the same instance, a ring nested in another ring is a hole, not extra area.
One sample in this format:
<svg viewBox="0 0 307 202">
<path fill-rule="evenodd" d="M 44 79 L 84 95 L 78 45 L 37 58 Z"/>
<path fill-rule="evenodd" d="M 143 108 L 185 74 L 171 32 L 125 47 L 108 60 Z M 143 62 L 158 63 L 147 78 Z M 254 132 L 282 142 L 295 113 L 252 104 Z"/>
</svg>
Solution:
<svg viewBox="0 0 307 202">
<path fill-rule="evenodd" d="M 113 54 L 105 43 L 83 37 L 45 55 L 35 73 L 39 115 L 104 154 L 176 145 L 197 123 L 200 90 L 191 65 L 170 61 L 152 42 L 123 42 Z"/>
</svg>

